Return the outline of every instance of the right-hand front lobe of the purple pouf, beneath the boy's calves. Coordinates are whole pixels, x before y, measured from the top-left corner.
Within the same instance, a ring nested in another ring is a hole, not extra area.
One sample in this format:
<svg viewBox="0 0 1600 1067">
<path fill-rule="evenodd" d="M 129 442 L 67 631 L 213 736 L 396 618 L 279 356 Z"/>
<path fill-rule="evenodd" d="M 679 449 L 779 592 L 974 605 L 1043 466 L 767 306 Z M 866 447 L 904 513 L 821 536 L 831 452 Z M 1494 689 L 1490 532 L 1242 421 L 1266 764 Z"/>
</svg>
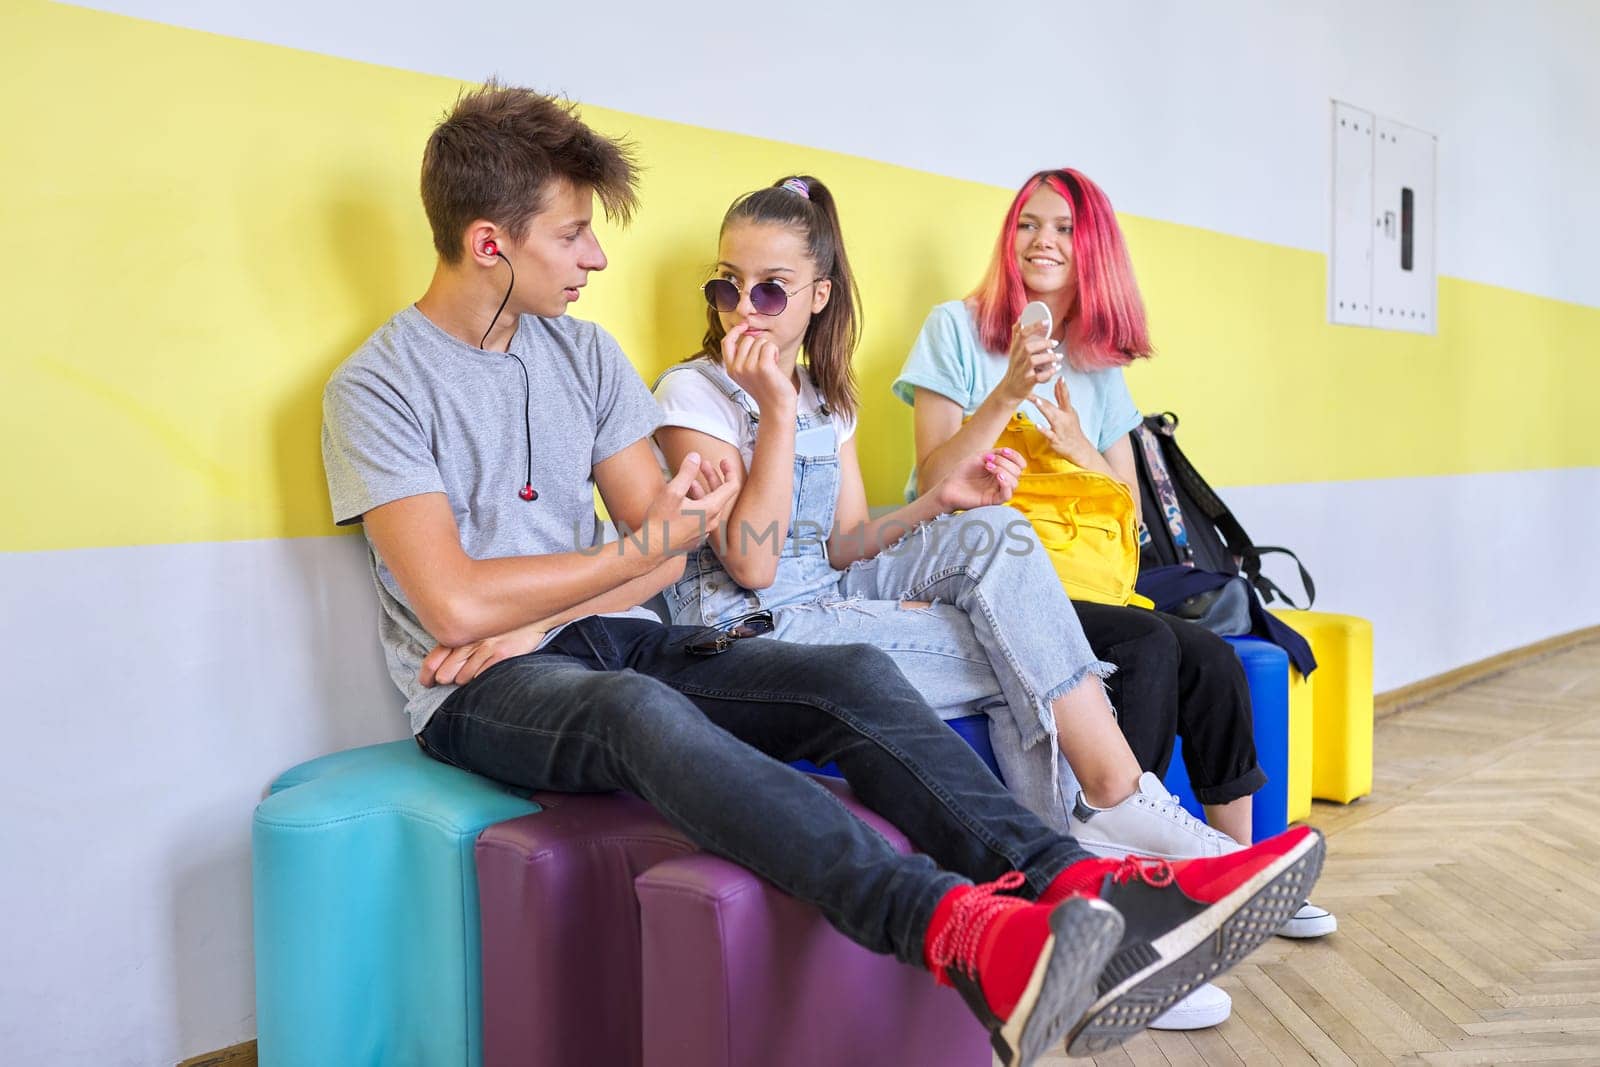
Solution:
<svg viewBox="0 0 1600 1067">
<path fill-rule="evenodd" d="M 906 837 L 824 782 L 894 848 Z M 643 1067 L 987 1067 L 989 1035 L 955 990 L 856 945 L 811 905 L 696 853 L 635 881 Z"/>
</svg>

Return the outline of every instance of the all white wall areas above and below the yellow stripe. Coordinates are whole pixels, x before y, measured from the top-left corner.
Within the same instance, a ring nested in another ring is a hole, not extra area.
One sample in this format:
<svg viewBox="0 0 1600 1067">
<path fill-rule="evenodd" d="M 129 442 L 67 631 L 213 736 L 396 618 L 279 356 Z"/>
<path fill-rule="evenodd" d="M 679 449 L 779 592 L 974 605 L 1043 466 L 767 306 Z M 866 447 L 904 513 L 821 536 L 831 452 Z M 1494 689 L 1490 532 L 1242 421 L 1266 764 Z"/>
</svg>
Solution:
<svg viewBox="0 0 1600 1067">
<path fill-rule="evenodd" d="M 1341 98 L 1440 134 L 1442 274 L 1600 306 L 1589 3 L 829 0 L 722 29 L 642 0 L 93 6 L 998 186 L 1072 163 L 1123 211 L 1310 250 Z M 1589 469 L 1227 496 L 1326 606 L 1374 617 L 1387 688 L 1592 625 L 1597 490 Z M 291 763 L 403 733 L 360 557 L 336 537 L 0 557 L 6 1062 L 170 1064 L 253 1033 L 250 811 Z"/>
</svg>

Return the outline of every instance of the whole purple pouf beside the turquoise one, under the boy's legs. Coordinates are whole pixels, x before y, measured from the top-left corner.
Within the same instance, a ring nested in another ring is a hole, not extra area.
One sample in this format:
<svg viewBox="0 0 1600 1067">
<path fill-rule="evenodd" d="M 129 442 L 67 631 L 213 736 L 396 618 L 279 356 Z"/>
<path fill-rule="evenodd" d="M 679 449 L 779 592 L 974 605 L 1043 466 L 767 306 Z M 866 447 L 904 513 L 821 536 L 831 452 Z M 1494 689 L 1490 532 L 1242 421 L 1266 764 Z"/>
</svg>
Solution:
<svg viewBox="0 0 1600 1067">
<path fill-rule="evenodd" d="M 992 1062 L 954 990 L 696 851 L 643 801 L 534 800 L 477 841 L 485 1067 Z"/>
</svg>

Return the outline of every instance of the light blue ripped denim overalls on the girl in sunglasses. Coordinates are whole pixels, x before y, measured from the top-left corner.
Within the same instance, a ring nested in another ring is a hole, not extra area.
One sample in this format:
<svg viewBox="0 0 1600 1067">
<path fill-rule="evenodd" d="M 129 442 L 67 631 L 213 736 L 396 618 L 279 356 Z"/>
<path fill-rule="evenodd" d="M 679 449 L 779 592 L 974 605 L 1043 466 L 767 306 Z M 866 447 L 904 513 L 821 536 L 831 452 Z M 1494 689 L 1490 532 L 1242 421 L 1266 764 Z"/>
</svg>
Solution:
<svg viewBox="0 0 1600 1067">
<path fill-rule="evenodd" d="M 701 371 L 752 422 L 755 402 L 706 365 Z M 982 710 L 995 761 L 1024 806 L 1066 830 L 1077 782 L 1061 760 L 1053 701 L 1115 667 L 1094 657 L 1072 601 L 1027 518 L 1010 507 L 944 515 L 838 571 L 827 536 L 838 502 L 838 437 L 832 416 L 803 414 L 795 432 L 794 498 L 781 549 L 765 531 L 731 531 L 754 550 L 778 550 L 766 589 L 733 581 L 710 545 L 690 553 L 666 590 L 675 624 L 710 625 L 757 609 L 773 637 L 802 645 L 874 645 L 886 651 L 941 718 Z M 776 531 L 771 531 L 773 534 Z M 902 601 L 928 601 L 904 608 Z"/>
</svg>

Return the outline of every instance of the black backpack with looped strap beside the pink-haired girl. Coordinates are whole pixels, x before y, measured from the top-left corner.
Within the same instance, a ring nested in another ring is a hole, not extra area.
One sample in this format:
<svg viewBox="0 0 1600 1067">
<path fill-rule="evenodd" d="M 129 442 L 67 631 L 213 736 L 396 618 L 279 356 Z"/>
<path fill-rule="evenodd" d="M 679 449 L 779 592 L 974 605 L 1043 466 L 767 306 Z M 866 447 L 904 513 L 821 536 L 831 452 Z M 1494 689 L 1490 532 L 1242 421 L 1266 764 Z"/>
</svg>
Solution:
<svg viewBox="0 0 1600 1067">
<path fill-rule="evenodd" d="M 1171 411 L 1147 414 L 1133 429 L 1133 459 L 1139 470 L 1139 499 L 1152 518 L 1139 523 L 1139 568 L 1194 566 L 1216 574 L 1238 574 L 1266 603 L 1282 600 L 1290 608 L 1310 608 L 1317 598 L 1306 565 L 1277 545 L 1258 545 L 1227 510 L 1222 498 L 1206 485 L 1189 458 L 1178 448 L 1178 416 Z M 1155 517 L 1165 522 L 1154 522 Z M 1306 587 L 1306 603 L 1296 605 L 1277 582 L 1261 573 L 1261 557 L 1282 553 L 1294 560 Z"/>
</svg>

